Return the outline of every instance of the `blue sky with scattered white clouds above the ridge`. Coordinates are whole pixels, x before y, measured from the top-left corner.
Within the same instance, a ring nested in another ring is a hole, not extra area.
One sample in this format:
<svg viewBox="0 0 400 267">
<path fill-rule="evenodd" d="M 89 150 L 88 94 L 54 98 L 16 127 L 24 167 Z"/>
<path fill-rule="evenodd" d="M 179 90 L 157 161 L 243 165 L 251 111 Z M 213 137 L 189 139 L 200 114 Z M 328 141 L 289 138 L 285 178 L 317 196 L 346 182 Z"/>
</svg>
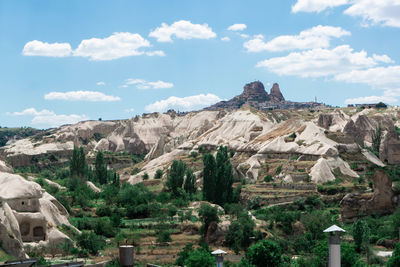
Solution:
<svg viewBox="0 0 400 267">
<path fill-rule="evenodd" d="M 399 0 L 0 0 L 0 126 L 287 100 L 400 101 Z"/>
</svg>

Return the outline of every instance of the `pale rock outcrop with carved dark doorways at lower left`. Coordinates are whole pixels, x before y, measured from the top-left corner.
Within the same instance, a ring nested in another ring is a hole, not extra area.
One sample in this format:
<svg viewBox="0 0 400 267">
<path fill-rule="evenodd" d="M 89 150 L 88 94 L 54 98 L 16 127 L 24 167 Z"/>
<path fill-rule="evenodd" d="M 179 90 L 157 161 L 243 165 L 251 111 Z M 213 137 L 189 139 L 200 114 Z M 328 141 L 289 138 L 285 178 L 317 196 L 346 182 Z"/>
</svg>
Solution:
<svg viewBox="0 0 400 267">
<path fill-rule="evenodd" d="M 25 258 L 24 242 L 46 247 L 69 240 L 57 229 L 61 225 L 74 228 L 68 216 L 64 206 L 39 184 L 0 172 L 0 241 L 7 253 Z"/>
</svg>

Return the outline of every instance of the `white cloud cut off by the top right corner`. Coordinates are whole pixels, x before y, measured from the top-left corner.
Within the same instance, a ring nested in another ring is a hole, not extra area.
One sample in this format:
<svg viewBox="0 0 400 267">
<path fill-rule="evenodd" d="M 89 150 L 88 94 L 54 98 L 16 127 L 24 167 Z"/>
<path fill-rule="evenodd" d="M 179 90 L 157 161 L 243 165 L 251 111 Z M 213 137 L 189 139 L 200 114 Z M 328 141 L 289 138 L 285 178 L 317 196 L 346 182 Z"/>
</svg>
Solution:
<svg viewBox="0 0 400 267">
<path fill-rule="evenodd" d="M 400 27 L 400 1 L 398 0 L 354 0 L 344 13 L 362 17 L 365 25 L 382 24 Z"/>
</svg>

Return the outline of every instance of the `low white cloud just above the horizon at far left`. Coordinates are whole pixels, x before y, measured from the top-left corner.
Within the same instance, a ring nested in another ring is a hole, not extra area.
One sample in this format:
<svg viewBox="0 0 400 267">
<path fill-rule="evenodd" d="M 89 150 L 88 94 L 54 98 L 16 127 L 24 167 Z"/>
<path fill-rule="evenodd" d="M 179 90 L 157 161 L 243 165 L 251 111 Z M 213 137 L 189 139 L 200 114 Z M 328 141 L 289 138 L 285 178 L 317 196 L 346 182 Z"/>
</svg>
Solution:
<svg viewBox="0 0 400 267">
<path fill-rule="evenodd" d="M 9 113 L 9 115 L 13 116 L 33 116 L 32 124 L 34 125 L 42 125 L 42 126 L 50 126 L 56 127 L 63 124 L 73 124 L 82 120 L 88 120 L 89 117 L 86 115 L 77 115 L 77 114 L 56 114 L 53 111 L 43 109 L 41 111 L 37 111 L 35 108 L 28 108 L 21 112 L 13 112 Z"/>
</svg>

